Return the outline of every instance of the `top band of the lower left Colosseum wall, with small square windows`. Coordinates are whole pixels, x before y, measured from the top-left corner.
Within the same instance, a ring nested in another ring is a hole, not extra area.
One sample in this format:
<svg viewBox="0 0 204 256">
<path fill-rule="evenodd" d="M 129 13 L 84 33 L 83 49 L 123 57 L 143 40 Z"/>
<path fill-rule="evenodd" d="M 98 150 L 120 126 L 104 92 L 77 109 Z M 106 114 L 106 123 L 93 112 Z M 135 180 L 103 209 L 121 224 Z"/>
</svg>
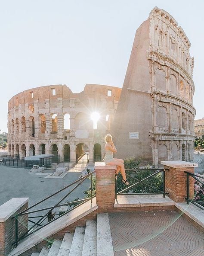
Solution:
<svg viewBox="0 0 204 256">
<path fill-rule="evenodd" d="M 55 90 L 55 95 L 53 95 L 53 90 Z M 111 90 L 111 96 L 107 96 L 108 90 Z M 84 90 L 80 93 L 73 93 L 65 84 L 41 86 L 25 90 L 13 96 L 8 102 L 8 111 L 20 104 L 25 105 L 25 103 L 28 103 L 29 105 L 34 105 L 35 101 L 41 102 L 42 105 L 47 99 L 53 102 L 53 104 L 58 98 L 63 99 L 64 102 L 66 102 L 66 99 L 72 98 L 76 99 L 76 102 L 88 102 L 90 98 L 118 101 L 120 95 L 121 88 L 106 85 L 86 84 Z"/>
</svg>

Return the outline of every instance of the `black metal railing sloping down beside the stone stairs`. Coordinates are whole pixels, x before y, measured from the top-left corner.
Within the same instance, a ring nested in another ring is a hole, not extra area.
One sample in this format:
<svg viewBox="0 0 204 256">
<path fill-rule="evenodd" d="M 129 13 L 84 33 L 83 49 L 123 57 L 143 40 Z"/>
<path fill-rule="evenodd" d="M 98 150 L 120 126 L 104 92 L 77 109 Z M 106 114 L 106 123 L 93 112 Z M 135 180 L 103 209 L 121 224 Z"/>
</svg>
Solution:
<svg viewBox="0 0 204 256">
<path fill-rule="evenodd" d="M 69 184 L 65 188 L 60 189 L 59 191 L 55 192 L 54 194 L 49 195 L 48 197 L 44 198 L 40 202 L 37 202 L 36 204 L 32 205 L 31 207 L 28 207 L 27 209 L 25 209 L 24 211 L 21 211 L 20 213 L 14 215 L 13 218 L 15 218 L 15 243 L 13 243 L 13 244 L 15 244 L 15 246 L 17 246 L 18 242 L 20 240 L 22 240 L 23 238 L 28 237 L 32 233 L 35 233 L 37 230 L 41 229 L 42 227 L 45 227 L 49 223 L 51 223 L 53 221 L 56 221 L 57 219 L 61 218 L 64 214 L 67 214 L 68 212 L 70 212 L 73 209 L 77 208 L 79 205 L 82 205 L 83 203 L 85 203 L 85 202 L 87 202 L 89 200 L 92 203 L 92 200 L 95 197 L 95 195 L 93 196 L 93 182 L 92 182 L 93 174 L 95 172 L 96 171 L 94 170 L 93 172 L 87 174 L 86 176 L 83 176 L 81 179 L 77 179 L 76 181 L 72 182 L 71 184 Z M 73 192 L 78 186 L 80 186 L 89 177 L 90 177 L 90 197 L 89 198 L 83 198 L 83 199 L 79 199 L 79 200 L 74 200 L 72 202 L 62 203 L 65 200 L 65 198 L 67 198 L 68 195 L 71 194 L 71 192 Z M 46 208 L 37 209 L 37 210 L 34 210 L 34 211 L 29 211 L 31 208 L 34 208 L 34 207 L 38 206 L 40 203 L 45 202 L 49 198 L 59 194 L 60 192 L 64 191 L 65 189 L 70 188 L 74 184 L 76 184 L 76 186 L 74 186 L 74 188 L 72 188 L 68 193 L 63 195 L 63 197 L 55 205 L 50 206 L 50 207 L 46 207 Z M 54 209 L 59 208 L 61 206 L 69 206 L 69 205 L 76 205 L 76 206 L 74 206 L 73 208 L 69 209 L 68 211 L 66 211 L 63 214 L 54 214 L 53 213 Z M 46 211 L 46 210 L 48 210 L 48 211 Z M 37 216 L 30 216 L 30 214 L 35 214 L 37 212 L 43 212 L 43 211 L 46 211 L 46 212 L 44 214 L 40 214 L 40 215 L 38 214 Z M 28 228 L 28 230 L 27 230 L 27 232 L 25 232 L 25 234 L 23 234 L 21 237 L 19 237 L 18 225 L 19 225 L 19 223 L 21 223 L 20 216 L 25 216 L 25 215 L 28 215 L 28 221 L 30 223 L 32 223 L 33 225 Z M 55 218 L 55 216 L 58 216 L 58 217 Z M 38 220 L 37 221 L 33 221 L 34 218 L 38 218 Z"/>
</svg>

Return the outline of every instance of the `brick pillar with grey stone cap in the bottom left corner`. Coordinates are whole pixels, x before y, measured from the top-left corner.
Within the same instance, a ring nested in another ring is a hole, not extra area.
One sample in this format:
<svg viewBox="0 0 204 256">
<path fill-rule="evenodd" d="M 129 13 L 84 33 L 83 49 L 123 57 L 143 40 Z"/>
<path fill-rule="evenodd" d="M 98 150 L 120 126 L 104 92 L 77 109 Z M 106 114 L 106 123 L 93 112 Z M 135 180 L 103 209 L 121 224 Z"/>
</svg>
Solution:
<svg viewBox="0 0 204 256">
<path fill-rule="evenodd" d="M 7 256 L 15 242 L 15 218 L 13 216 L 28 208 L 29 198 L 12 198 L 0 205 L 0 256 Z M 28 215 L 19 216 L 18 236 L 28 230 Z"/>
</svg>

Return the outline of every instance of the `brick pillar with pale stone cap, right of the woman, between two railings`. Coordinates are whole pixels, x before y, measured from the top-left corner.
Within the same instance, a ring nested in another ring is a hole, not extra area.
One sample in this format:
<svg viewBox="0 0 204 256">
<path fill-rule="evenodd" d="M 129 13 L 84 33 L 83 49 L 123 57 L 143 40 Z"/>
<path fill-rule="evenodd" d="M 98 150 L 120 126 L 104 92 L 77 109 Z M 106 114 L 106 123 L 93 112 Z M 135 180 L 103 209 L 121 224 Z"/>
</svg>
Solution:
<svg viewBox="0 0 204 256">
<path fill-rule="evenodd" d="M 165 189 L 169 193 L 169 197 L 174 202 L 186 202 L 186 173 L 194 173 L 194 167 L 197 163 L 189 163 L 185 161 L 161 161 L 165 171 Z M 189 177 L 189 197 L 194 198 L 193 178 Z"/>
</svg>

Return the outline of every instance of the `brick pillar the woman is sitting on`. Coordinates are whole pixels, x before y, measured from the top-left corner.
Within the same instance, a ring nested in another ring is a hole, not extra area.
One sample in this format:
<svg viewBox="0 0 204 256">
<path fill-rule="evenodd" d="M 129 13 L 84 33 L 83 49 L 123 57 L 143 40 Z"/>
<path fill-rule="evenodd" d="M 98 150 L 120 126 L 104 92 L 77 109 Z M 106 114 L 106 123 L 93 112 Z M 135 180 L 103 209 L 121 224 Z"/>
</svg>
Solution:
<svg viewBox="0 0 204 256">
<path fill-rule="evenodd" d="M 115 165 L 95 162 L 96 204 L 99 208 L 113 208 L 115 202 Z"/>
</svg>

